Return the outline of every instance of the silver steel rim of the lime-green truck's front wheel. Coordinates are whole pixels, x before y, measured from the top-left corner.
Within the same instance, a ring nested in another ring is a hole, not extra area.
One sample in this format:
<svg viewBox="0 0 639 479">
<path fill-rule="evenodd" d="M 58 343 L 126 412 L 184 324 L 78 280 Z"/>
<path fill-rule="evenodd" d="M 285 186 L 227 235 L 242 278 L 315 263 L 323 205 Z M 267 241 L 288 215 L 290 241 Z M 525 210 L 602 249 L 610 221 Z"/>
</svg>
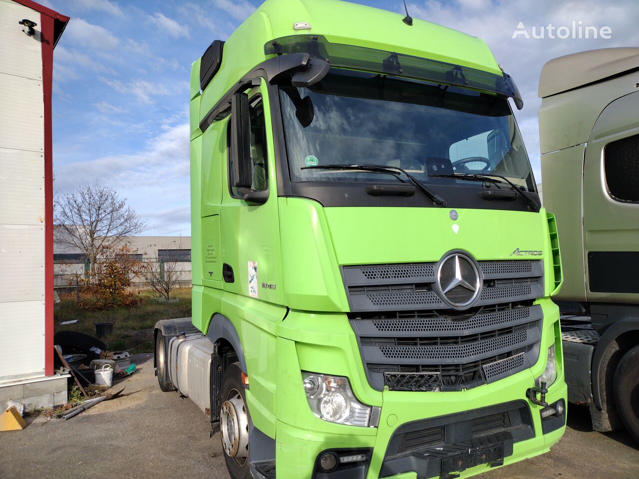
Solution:
<svg viewBox="0 0 639 479">
<path fill-rule="evenodd" d="M 249 415 L 236 389 L 229 392 L 220 407 L 220 438 L 224 453 L 238 466 L 244 466 L 249 457 Z"/>
</svg>

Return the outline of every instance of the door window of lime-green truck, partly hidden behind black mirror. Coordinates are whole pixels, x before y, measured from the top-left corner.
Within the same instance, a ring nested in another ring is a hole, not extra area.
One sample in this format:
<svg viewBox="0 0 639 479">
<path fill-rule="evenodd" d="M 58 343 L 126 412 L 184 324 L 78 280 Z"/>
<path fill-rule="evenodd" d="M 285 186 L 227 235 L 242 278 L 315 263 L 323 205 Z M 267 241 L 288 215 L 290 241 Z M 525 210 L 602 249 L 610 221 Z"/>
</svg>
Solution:
<svg viewBox="0 0 639 479">
<path fill-rule="evenodd" d="M 229 117 L 230 118 L 230 117 Z M 253 160 L 251 189 L 263 191 L 268 188 L 268 164 L 266 163 L 266 123 L 264 118 L 264 103 L 261 96 L 251 99 L 249 105 L 250 118 L 250 158 Z M 234 198 L 241 198 L 237 188 L 231 185 L 233 178 L 233 153 L 231 144 L 231 121 L 227 122 L 226 156 L 229 162 L 229 192 Z"/>
</svg>

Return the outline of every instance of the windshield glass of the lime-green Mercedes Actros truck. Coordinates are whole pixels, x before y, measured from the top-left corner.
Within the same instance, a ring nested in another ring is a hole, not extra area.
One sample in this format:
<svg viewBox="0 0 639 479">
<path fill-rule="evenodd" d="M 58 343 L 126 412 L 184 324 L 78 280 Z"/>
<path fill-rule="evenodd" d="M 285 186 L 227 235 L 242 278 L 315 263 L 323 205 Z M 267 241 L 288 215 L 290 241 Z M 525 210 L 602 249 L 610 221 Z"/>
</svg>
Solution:
<svg viewBox="0 0 639 479">
<path fill-rule="evenodd" d="M 402 168 L 424 185 L 511 188 L 434 176 L 490 173 L 535 191 L 514 116 L 497 95 L 332 69 L 311 87 L 281 87 L 280 96 L 293 182 L 397 181 L 381 172 L 309 168 L 366 163 Z"/>
</svg>

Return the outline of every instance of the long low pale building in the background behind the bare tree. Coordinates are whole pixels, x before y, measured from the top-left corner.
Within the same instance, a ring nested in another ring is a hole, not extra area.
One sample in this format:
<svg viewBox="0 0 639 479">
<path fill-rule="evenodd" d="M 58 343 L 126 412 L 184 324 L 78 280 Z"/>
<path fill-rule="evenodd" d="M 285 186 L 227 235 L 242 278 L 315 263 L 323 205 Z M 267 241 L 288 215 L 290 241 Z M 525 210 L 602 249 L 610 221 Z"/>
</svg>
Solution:
<svg viewBox="0 0 639 479">
<path fill-rule="evenodd" d="M 127 240 L 132 256 L 139 261 L 177 263 L 180 285 L 191 284 L 191 237 L 190 236 L 134 236 Z M 88 261 L 82 250 L 69 248 L 54 242 L 54 287 L 62 293 L 75 287 L 75 278 L 89 271 Z M 133 278 L 134 285 L 144 287 L 144 279 Z"/>
</svg>

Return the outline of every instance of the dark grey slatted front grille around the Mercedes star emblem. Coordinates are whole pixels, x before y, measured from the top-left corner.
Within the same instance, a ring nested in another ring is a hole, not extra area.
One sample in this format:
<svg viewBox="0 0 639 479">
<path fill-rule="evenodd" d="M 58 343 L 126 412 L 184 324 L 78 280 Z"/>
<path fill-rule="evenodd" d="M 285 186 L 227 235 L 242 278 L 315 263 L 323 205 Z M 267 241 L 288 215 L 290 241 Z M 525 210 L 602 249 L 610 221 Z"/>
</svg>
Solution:
<svg viewBox="0 0 639 479">
<path fill-rule="evenodd" d="M 478 264 L 479 300 L 461 311 L 436 292 L 436 264 L 343 267 L 349 317 L 373 388 L 458 391 L 537 361 L 542 311 L 532 301 L 543 296 L 542 262 Z"/>
</svg>

